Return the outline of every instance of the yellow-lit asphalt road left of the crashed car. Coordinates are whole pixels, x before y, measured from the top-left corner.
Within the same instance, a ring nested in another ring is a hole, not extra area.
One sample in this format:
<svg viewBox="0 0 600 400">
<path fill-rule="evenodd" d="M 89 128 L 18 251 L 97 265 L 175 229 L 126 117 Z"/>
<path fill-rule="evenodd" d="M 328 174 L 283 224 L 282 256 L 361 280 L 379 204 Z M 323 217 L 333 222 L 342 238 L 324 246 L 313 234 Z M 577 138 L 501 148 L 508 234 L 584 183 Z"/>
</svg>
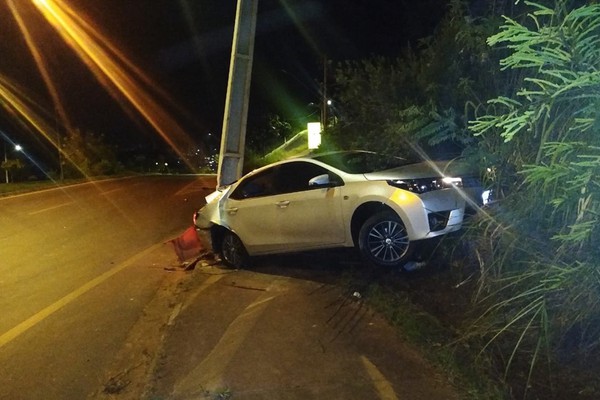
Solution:
<svg viewBox="0 0 600 400">
<path fill-rule="evenodd" d="M 0 198 L 0 399 L 95 390 L 177 263 L 165 242 L 213 187 L 157 176 Z"/>
</svg>

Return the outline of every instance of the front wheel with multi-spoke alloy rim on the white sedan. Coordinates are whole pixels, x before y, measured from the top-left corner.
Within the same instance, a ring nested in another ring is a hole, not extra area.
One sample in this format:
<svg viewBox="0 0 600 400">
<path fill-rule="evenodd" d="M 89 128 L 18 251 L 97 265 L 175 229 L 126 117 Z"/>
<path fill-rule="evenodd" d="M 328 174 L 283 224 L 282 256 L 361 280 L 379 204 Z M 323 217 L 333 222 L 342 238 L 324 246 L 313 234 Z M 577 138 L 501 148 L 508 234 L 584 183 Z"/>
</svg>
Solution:
<svg viewBox="0 0 600 400">
<path fill-rule="evenodd" d="M 402 220 L 392 211 L 380 212 L 365 221 L 358 246 L 369 264 L 384 268 L 404 265 L 413 249 Z"/>
</svg>

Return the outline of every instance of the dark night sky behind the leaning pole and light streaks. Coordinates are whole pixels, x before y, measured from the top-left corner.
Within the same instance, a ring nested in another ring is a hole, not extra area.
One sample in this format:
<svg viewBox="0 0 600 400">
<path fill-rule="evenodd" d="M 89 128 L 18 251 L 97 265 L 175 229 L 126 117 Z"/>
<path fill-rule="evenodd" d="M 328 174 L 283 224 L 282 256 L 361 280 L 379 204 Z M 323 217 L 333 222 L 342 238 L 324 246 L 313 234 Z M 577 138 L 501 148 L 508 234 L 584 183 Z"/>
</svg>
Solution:
<svg viewBox="0 0 600 400">
<path fill-rule="evenodd" d="M 0 74 L 27 88 L 48 107 L 47 91 L 7 1 L 0 0 Z M 149 75 L 154 86 L 169 94 L 177 105 L 169 107 L 172 117 L 191 136 L 220 134 L 235 0 L 66 2 Z M 307 108 L 310 101 L 317 102 L 324 55 L 334 61 L 398 55 L 407 43 L 432 33 L 447 3 L 260 0 L 250 118 L 267 111 L 286 115 Z M 142 119 L 121 111 L 37 10 L 27 6 L 19 9 L 29 10 L 24 18 L 33 21 L 36 42 L 75 125 L 116 137 L 121 143 L 160 142 Z M 7 119 L 6 114 L 0 116 L 0 129 L 26 142 L 27 134 L 18 133 Z"/>
</svg>

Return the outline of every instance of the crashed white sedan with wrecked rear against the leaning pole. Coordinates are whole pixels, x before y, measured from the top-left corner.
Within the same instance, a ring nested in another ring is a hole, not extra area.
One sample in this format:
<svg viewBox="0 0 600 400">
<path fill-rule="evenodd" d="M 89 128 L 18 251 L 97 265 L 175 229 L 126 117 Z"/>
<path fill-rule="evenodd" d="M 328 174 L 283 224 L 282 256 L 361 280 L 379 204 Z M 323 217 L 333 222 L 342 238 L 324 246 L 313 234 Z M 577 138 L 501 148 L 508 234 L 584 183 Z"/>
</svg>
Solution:
<svg viewBox="0 0 600 400">
<path fill-rule="evenodd" d="M 194 224 L 236 268 L 249 256 L 354 246 L 371 265 L 401 266 L 414 242 L 461 228 L 461 178 L 448 165 L 366 151 L 281 161 L 207 196 Z"/>
</svg>

